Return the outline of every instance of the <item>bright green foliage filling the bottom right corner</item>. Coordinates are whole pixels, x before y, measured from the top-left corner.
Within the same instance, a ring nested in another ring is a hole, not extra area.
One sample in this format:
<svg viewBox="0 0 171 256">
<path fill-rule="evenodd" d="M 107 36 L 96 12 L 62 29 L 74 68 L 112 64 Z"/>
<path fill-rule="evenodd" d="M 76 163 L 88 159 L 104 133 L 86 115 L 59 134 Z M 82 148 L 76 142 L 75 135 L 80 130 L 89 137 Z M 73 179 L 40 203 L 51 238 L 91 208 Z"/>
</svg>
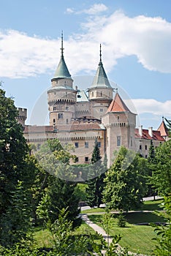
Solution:
<svg viewBox="0 0 171 256">
<path fill-rule="evenodd" d="M 155 227 L 157 237 L 156 248 L 153 250 L 154 255 L 170 256 L 171 252 L 171 195 L 164 197 L 164 204 L 162 205 L 164 212 L 156 211 L 156 214 L 160 217 L 164 217 L 167 225 L 160 225 Z"/>
</svg>

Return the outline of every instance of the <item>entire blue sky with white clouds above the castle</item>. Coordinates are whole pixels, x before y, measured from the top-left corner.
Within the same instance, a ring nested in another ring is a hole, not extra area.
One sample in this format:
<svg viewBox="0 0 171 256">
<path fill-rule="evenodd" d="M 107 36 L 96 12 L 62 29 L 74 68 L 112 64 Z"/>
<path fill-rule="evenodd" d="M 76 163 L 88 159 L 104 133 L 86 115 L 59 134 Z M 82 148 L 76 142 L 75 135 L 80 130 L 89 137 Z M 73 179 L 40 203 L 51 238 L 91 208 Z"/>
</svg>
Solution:
<svg viewBox="0 0 171 256">
<path fill-rule="evenodd" d="M 107 77 L 126 104 L 131 100 L 137 125 L 158 129 L 162 116 L 171 119 L 170 0 L 0 4 L 1 86 L 17 107 L 28 109 L 26 124 L 48 124 L 47 89 L 61 56 L 61 31 L 64 59 L 75 85 L 91 86 L 101 43 Z"/>
</svg>

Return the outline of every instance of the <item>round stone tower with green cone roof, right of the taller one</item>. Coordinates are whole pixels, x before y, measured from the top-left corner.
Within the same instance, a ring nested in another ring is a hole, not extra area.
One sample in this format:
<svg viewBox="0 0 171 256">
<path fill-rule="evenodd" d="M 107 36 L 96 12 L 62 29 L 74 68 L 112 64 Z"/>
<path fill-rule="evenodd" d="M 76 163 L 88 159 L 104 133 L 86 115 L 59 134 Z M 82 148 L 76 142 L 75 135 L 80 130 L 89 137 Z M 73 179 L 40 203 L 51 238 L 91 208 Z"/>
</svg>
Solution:
<svg viewBox="0 0 171 256">
<path fill-rule="evenodd" d="M 91 101 L 91 110 L 95 118 L 101 119 L 110 102 L 113 100 L 113 88 L 107 78 L 102 64 L 102 50 L 100 45 L 100 60 L 88 97 Z"/>
</svg>

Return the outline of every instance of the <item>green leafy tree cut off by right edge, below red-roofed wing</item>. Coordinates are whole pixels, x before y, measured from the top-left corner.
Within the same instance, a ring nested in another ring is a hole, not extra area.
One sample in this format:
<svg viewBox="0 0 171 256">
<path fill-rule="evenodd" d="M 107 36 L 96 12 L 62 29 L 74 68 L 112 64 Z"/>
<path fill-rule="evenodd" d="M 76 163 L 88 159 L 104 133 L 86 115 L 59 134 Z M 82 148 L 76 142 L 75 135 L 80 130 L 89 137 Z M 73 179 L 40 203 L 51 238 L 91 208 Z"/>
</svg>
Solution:
<svg viewBox="0 0 171 256">
<path fill-rule="evenodd" d="M 156 148 L 155 163 L 152 166 L 151 184 L 159 195 L 171 193 L 171 140 L 162 143 Z"/>
</svg>

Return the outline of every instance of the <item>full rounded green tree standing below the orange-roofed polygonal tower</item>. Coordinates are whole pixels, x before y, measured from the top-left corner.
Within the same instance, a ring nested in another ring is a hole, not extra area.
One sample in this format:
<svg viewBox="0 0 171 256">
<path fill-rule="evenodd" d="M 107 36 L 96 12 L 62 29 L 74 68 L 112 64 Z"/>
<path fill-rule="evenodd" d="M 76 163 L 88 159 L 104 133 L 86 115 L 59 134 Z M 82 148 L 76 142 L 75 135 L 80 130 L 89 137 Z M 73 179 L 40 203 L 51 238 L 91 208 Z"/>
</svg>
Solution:
<svg viewBox="0 0 171 256">
<path fill-rule="evenodd" d="M 139 206 L 146 192 L 144 176 L 145 159 L 121 147 L 104 178 L 104 203 L 119 211 Z"/>
</svg>

